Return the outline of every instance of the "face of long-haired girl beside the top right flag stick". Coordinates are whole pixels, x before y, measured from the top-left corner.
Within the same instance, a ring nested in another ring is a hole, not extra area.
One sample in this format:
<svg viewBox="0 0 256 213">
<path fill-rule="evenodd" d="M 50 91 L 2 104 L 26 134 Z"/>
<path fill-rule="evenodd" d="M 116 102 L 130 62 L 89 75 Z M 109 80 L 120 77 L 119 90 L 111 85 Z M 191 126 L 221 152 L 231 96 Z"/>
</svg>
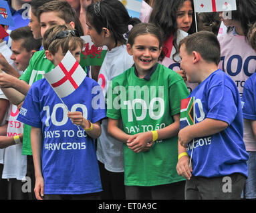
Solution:
<svg viewBox="0 0 256 213">
<path fill-rule="evenodd" d="M 178 29 L 188 32 L 193 21 L 193 9 L 191 1 L 184 1 L 183 5 L 176 12 Z"/>
</svg>

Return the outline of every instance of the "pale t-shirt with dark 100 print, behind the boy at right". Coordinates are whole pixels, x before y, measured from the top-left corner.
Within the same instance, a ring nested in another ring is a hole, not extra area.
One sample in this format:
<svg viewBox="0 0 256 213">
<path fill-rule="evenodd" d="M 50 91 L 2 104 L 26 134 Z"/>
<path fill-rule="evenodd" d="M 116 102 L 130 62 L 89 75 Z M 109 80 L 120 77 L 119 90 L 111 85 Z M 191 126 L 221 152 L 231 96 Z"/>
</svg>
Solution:
<svg viewBox="0 0 256 213">
<path fill-rule="evenodd" d="M 242 97 L 245 81 L 255 73 L 256 53 L 247 43 L 245 36 L 237 35 L 235 30 L 218 39 L 221 45 L 219 68 L 235 81 Z M 246 150 L 256 151 L 256 141 L 251 129 L 251 122 L 245 120 L 243 129 L 243 140 L 245 141 Z"/>
</svg>

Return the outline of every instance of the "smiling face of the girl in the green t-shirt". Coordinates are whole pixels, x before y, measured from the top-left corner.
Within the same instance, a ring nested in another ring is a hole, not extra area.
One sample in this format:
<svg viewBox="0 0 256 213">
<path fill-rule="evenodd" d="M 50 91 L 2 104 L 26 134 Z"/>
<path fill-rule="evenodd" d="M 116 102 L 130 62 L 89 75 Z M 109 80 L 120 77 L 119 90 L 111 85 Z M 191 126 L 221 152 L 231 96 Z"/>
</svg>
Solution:
<svg viewBox="0 0 256 213">
<path fill-rule="evenodd" d="M 146 34 L 138 35 L 132 46 L 127 45 L 127 51 L 133 55 L 136 69 L 144 72 L 157 63 L 162 47 L 159 47 L 159 41 L 154 35 Z"/>
</svg>

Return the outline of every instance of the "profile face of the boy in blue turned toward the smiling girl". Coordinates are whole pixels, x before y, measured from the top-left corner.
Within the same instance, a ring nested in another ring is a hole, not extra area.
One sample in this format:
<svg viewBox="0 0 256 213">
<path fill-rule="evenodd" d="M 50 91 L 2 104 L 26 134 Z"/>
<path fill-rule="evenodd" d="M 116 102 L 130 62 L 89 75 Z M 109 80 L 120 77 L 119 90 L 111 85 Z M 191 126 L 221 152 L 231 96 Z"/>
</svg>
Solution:
<svg viewBox="0 0 256 213">
<path fill-rule="evenodd" d="M 180 47 L 180 69 L 186 73 L 186 78 L 189 83 L 197 83 L 195 81 L 195 72 L 193 71 L 193 55 L 188 55 L 186 51 L 186 46 L 184 44 Z"/>
</svg>

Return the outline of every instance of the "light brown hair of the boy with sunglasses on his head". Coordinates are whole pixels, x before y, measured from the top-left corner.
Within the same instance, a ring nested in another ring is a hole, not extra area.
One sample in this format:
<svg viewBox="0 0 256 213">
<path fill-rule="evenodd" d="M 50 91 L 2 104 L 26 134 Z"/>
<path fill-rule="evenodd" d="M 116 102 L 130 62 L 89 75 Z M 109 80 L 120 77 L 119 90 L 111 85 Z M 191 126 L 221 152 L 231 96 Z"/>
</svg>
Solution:
<svg viewBox="0 0 256 213">
<path fill-rule="evenodd" d="M 57 33 L 66 30 L 74 30 L 70 25 L 54 25 L 53 27 L 47 29 L 43 35 L 43 49 L 48 50 L 52 55 L 55 55 L 61 47 L 63 53 L 68 51 L 74 51 L 76 48 L 84 46 L 84 40 L 80 37 L 74 37 L 71 33 L 68 37 L 63 39 L 55 39 L 52 41 L 53 37 Z"/>
</svg>

